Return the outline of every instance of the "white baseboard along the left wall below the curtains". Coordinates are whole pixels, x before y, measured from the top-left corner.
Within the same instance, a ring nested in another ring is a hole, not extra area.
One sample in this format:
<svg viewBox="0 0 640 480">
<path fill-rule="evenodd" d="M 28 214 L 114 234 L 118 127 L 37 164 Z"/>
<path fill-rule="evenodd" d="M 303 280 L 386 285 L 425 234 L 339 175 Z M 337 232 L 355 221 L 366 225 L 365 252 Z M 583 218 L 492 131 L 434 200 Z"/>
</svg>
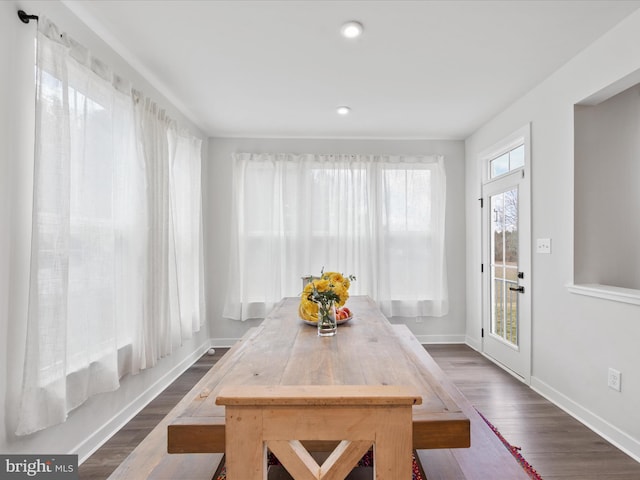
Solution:
<svg viewBox="0 0 640 480">
<path fill-rule="evenodd" d="M 179 364 L 165 373 L 161 378 L 135 398 L 129 405 L 124 407 L 111 420 L 105 423 L 98 431 L 79 443 L 71 450 L 78 455 L 78 464 L 82 464 L 98 448 L 100 448 L 109 438 L 118 432 L 126 423 L 135 417 L 147 404 L 157 397 L 174 380 L 182 375 L 196 360 L 205 354 L 212 346 L 211 340 L 205 341 L 200 347 L 187 355 Z"/>
</svg>

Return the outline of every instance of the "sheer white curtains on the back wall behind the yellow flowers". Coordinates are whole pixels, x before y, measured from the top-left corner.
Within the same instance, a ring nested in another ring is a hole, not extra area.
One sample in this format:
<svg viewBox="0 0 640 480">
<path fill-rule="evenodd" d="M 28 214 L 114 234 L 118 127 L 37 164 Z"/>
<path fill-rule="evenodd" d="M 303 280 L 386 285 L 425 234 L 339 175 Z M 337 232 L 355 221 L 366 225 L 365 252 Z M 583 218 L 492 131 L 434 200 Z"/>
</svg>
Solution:
<svg viewBox="0 0 640 480">
<path fill-rule="evenodd" d="M 388 316 L 448 311 L 441 156 L 234 155 L 224 316 L 264 317 L 304 274 L 356 275 Z"/>
</svg>

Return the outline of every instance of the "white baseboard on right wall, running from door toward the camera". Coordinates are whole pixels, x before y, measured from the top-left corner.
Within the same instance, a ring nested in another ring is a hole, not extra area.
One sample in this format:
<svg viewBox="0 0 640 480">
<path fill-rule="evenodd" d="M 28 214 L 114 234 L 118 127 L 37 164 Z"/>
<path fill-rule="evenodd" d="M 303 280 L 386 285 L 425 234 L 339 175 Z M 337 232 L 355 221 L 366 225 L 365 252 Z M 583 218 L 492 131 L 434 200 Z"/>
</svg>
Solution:
<svg viewBox="0 0 640 480">
<path fill-rule="evenodd" d="M 634 460 L 640 462 L 640 441 L 638 439 L 631 437 L 615 425 L 610 424 L 602 417 L 533 376 L 531 377 L 531 388 Z"/>
</svg>

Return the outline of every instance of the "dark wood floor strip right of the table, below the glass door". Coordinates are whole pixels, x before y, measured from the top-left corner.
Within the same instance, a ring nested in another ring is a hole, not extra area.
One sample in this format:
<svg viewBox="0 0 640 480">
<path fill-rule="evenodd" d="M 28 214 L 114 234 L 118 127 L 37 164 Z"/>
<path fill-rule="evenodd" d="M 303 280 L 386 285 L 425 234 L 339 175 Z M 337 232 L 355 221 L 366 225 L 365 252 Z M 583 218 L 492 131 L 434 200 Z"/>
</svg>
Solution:
<svg viewBox="0 0 640 480">
<path fill-rule="evenodd" d="M 544 480 L 638 480 L 640 463 L 465 345 L 427 351 Z"/>
</svg>

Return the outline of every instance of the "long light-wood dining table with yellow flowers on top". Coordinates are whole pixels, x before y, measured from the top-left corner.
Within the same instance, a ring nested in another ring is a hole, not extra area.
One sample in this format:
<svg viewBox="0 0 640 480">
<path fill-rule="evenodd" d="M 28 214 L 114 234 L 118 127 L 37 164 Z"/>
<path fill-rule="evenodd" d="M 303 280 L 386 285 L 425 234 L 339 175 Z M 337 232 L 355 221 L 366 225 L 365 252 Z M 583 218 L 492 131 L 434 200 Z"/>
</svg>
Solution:
<svg viewBox="0 0 640 480">
<path fill-rule="evenodd" d="M 422 397 L 412 409 L 414 449 L 470 446 L 469 418 L 405 325 L 391 324 L 371 298 L 352 296 L 352 319 L 335 336 L 319 337 L 298 317 L 298 304 L 296 297 L 283 299 L 215 365 L 169 424 L 169 453 L 225 451 L 225 407 L 216 398 L 230 386 L 407 386 Z"/>
</svg>

